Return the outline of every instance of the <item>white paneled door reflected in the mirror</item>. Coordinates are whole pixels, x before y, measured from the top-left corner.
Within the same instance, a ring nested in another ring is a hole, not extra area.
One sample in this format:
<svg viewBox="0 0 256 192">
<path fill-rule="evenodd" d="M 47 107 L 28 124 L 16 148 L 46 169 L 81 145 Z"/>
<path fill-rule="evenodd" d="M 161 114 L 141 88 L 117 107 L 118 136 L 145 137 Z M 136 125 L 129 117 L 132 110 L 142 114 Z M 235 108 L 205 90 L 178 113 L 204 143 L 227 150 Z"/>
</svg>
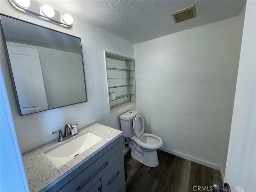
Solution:
<svg viewBox="0 0 256 192">
<path fill-rule="evenodd" d="M 48 109 L 38 50 L 8 46 L 22 114 Z"/>
</svg>

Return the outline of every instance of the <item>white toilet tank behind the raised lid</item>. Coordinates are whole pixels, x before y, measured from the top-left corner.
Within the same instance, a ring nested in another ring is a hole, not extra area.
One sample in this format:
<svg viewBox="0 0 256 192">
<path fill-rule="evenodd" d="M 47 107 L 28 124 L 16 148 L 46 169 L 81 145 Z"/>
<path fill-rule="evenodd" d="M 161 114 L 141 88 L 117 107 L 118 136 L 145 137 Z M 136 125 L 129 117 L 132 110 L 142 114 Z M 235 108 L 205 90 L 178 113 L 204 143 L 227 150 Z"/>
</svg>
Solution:
<svg viewBox="0 0 256 192">
<path fill-rule="evenodd" d="M 120 123 L 121 123 L 121 130 L 123 132 L 124 137 L 134 136 L 132 121 L 134 116 L 138 114 L 138 112 L 139 112 L 138 110 L 132 109 L 119 116 Z"/>
</svg>

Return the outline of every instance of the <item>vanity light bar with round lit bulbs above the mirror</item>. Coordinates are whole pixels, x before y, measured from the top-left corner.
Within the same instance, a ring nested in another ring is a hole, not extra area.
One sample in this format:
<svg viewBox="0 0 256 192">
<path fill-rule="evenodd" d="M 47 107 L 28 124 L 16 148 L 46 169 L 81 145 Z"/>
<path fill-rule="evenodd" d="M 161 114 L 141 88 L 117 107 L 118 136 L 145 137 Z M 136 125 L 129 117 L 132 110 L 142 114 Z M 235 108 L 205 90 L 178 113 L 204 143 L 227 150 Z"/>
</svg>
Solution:
<svg viewBox="0 0 256 192">
<path fill-rule="evenodd" d="M 35 0 L 8 0 L 8 2 L 18 11 L 58 24 L 62 27 L 71 28 L 73 18 L 70 14 L 64 14 L 54 10 L 48 4 L 42 4 Z"/>
</svg>

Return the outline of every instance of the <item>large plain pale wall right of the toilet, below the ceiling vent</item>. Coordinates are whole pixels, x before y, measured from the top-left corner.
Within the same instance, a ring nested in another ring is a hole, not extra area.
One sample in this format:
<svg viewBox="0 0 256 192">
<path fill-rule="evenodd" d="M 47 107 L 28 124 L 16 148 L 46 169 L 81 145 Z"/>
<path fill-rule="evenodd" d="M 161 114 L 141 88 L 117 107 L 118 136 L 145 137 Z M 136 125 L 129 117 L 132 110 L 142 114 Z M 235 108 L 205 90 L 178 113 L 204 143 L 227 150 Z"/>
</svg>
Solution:
<svg viewBox="0 0 256 192">
<path fill-rule="evenodd" d="M 136 109 L 167 152 L 225 170 L 243 21 L 134 45 Z"/>
</svg>

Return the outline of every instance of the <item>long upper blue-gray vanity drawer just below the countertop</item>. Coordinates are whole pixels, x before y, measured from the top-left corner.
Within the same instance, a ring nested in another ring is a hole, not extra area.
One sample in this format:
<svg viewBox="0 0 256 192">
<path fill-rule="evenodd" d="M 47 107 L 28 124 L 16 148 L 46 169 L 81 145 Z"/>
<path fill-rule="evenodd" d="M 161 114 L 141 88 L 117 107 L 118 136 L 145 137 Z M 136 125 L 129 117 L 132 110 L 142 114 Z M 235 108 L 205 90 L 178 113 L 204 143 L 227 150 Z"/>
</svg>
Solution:
<svg viewBox="0 0 256 192">
<path fill-rule="evenodd" d="M 83 170 L 68 184 L 61 188 L 60 192 L 82 192 L 88 191 L 106 171 L 120 159 L 120 145 L 115 145 L 112 149 L 102 155 L 98 160 Z"/>
</svg>

